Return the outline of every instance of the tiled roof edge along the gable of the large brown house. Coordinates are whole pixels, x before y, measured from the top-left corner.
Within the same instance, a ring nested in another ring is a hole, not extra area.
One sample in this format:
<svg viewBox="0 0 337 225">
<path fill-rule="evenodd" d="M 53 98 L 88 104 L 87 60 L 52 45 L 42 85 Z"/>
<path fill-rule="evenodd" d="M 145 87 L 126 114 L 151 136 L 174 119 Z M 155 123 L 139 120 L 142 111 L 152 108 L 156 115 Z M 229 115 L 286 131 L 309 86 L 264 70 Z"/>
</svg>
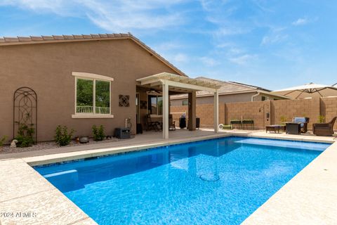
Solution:
<svg viewBox="0 0 337 225">
<path fill-rule="evenodd" d="M 148 51 L 151 55 L 158 58 L 162 63 L 169 66 L 178 75 L 187 77 L 184 72 L 172 65 L 168 60 L 160 56 L 149 46 L 144 44 L 140 39 L 128 34 L 81 34 L 81 35 L 53 35 L 53 36 L 29 36 L 29 37 L 4 37 L 0 38 L 0 46 L 18 45 L 18 44 L 46 44 L 55 42 L 73 42 L 73 41 L 98 41 L 98 40 L 114 40 L 114 39 L 130 39 L 135 41 L 140 47 Z"/>
</svg>

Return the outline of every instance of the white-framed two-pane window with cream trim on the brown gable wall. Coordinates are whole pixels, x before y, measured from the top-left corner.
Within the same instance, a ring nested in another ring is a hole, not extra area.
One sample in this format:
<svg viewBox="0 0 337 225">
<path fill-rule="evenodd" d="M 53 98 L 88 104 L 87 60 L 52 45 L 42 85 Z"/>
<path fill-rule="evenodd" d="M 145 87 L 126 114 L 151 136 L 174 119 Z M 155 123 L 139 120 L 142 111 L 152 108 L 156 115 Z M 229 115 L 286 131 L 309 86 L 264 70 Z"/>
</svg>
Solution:
<svg viewBox="0 0 337 225">
<path fill-rule="evenodd" d="M 111 115 L 111 77 L 73 72 L 75 76 L 75 115 L 83 117 L 113 117 Z"/>
</svg>

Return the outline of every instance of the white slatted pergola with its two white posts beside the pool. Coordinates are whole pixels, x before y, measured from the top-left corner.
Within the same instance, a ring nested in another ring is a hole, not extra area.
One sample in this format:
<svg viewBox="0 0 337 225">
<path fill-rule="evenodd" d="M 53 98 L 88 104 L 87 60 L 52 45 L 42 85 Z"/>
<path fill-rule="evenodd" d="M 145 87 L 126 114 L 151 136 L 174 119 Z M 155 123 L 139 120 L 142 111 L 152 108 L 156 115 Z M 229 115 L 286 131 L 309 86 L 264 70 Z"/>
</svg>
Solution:
<svg viewBox="0 0 337 225">
<path fill-rule="evenodd" d="M 136 80 L 140 85 L 150 87 L 161 86 L 163 89 L 163 138 L 169 139 L 169 90 L 180 92 L 209 91 L 214 94 L 214 131 L 218 132 L 218 89 L 220 85 L 213 82 L 201 81 L 190 77 L 173 75 L 168 72 L 161 72 Z M 192 105 L 195 108 L 195 104 Z M 193 110 L 195 112 L 195 110 Z"/>
</svg>

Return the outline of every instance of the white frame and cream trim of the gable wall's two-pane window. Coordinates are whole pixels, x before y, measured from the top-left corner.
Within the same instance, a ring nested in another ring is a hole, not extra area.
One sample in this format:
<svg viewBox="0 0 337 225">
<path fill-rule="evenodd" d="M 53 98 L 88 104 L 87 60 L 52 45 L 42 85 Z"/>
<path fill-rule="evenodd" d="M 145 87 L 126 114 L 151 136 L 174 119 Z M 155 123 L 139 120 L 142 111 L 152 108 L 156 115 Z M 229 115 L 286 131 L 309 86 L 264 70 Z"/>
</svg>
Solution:
<svg viewBox="0 0 337 225">
<path fill-rule="evenodd" d="M 74 119 L 84 119 L 84 118 L 113 118 L 114 115 L 112 115 L 111 111 L 111 86 L 112 82 L 114 81 L 114 78 L 112 77 L 106 77 L 102 75 L 96 75 L 93 73 L 88 72 L 72 72 L 72 76 L 74 76 L 75 79 L 75 101 L 74 101 L 74 114 L 72 115 L 72 118 Z M 89 79 L 93 81 L 93 113 L 77 113 L 77 79 Z M 96 101 L 96 80 L 103 81 L 103 82 L 110 82 L 110 114 L 98 114 L 95 113 L 95 101 Z"/>
</svg>

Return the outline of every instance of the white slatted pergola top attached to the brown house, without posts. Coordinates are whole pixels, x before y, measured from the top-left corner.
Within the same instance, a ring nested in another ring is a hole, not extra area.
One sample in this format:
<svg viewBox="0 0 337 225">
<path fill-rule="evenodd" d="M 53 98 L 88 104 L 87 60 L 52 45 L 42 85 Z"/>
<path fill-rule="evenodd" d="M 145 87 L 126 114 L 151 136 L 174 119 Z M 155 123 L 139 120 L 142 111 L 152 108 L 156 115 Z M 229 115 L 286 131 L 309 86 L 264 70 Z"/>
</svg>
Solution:
<svg viewBox="0 0 337 225">
<path fill-rule="evenodd" d="M 203 90 L 204 88 L 209 91 L 216 91 L 217 89 L 220 89 L 221 86 L 219 84 L 216 84 L 214 82 L 209 82 L 208 80 L 202 80 L 202 79 L 193 79 L 190 77 L 182 77 L 179 75 L 173 75 L 169 72 L 161 72 L 157 75 L 151 75 L 148 77 L 143 77 L 140 79 L 136 79 L 138 82 L 140 82 L 141 85 L 145 84 L 157 84 L 159 82 L 169 81 L 171 84 L 178 84 L 178 86 L 184 86 L 181 84 L 185 84 L 186 88 L 190 86 L 190 88 L 197 89 L 197 90 Z M 171 85 L 169 84 L 169 85 Z M 210 93 L 207 91 L 208 93 Z"/>
</svg>

